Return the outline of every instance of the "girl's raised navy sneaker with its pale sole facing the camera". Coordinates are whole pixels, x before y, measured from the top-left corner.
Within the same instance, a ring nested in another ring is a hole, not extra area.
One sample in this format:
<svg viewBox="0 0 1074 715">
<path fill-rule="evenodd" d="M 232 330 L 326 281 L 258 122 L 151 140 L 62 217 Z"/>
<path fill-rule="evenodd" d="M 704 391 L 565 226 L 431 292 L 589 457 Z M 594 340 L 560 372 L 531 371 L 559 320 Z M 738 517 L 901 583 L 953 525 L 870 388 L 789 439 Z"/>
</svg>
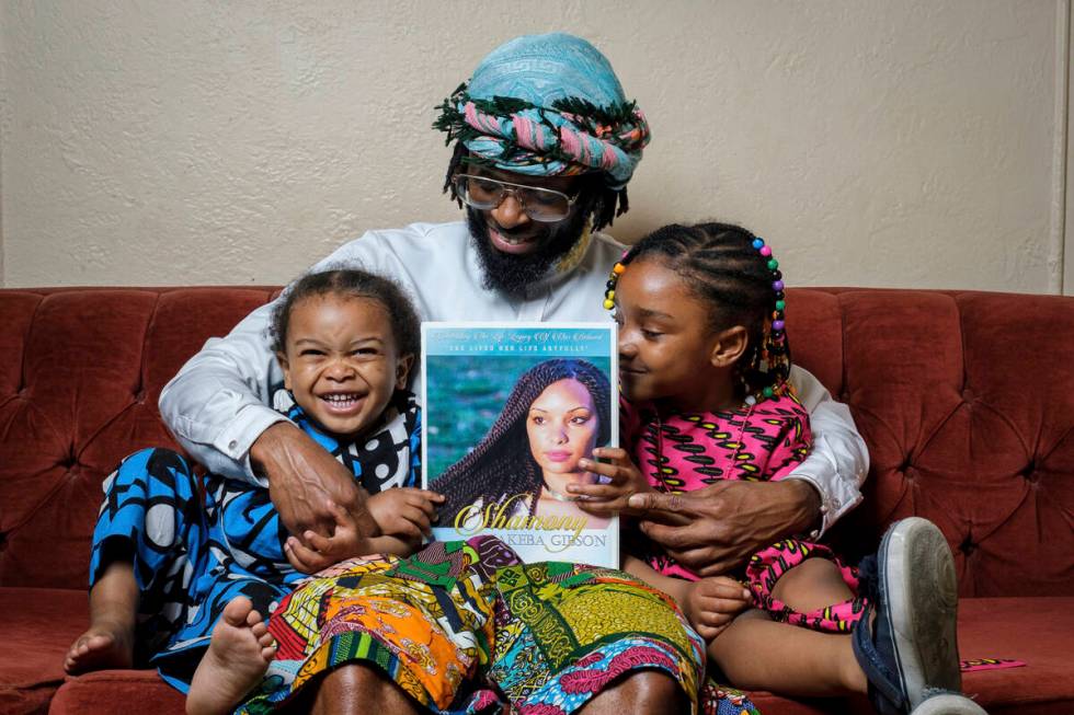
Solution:
<svg viewBox="0 0 1074 715">
<path fill-rule="evenodd" d="M 870 626 L 869 612 L 862 616 L 852 644 L 877 712 L 905 715 L 932 695 L 958 693 L 955 561 L 936 524 L 918 517 L 892 524 L 862 562 L 860 588 L 877 618 Z"/>
</svg>

